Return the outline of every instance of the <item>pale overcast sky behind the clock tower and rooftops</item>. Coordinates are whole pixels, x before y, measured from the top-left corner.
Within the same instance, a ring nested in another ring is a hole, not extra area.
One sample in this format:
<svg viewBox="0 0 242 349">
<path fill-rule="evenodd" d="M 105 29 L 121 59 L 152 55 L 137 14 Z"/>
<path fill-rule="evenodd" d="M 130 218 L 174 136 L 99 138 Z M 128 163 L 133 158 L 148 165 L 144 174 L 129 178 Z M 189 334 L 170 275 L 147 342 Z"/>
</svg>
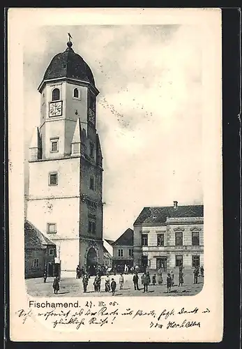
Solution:
<svg viewBox="0 0 242 349">
<path fill-rule="evenodd" d="M 145 206 L 202 203 L 202 42 L 199 27 L 31 29 L 24 45 L 26 159 L 40 122 L 37 90 L 55 54 L 73 50 L 99 89 L 104 237 L 116 239 Z M 27 160 L 26 160 L 27 170 Z M 27 178 L 27 173 L 26 173 Z M 27 184 L 27 180 L 26 180 Z"/>
</svg>

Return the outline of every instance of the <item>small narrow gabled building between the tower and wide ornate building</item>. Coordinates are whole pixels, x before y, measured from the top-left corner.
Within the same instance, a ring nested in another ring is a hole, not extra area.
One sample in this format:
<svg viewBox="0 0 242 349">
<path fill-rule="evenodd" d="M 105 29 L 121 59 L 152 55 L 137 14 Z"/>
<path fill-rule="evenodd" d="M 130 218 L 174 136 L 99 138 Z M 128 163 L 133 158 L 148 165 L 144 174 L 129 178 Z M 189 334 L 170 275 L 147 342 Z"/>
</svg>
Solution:
<svg viewBox="0 0 242 349">
<path fill-rule="evenodd" d="M 116 270 L 123 271 L 125 265 L 128 267 L 133 267 L 134 258 L 133 258 L 133 244 L 134 244 L 134 231 L 128 228 L 123 234 L 113 242 L 113 259 L 112 265 L 113 268 L 116 267 Z"/>
</svg>

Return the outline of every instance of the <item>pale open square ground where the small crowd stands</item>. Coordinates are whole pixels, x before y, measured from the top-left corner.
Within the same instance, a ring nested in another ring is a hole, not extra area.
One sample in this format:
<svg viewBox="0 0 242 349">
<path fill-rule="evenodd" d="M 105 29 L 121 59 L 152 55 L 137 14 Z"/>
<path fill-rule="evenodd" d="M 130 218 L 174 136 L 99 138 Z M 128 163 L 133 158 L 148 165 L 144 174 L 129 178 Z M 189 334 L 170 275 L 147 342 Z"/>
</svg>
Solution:
<svg viewBox="0 0 242 349">
<path fill-rule="evenodd" d="M 172 286 L 171 292 L 167 293 L 167 285 L 166 279 L 167 274 L 163 273 L 163 283 L 162 285 L 152 285 L 152 272 L 151 272 L 151 285 L 148 286 L 148 292 L 143 292 L 143 285 L 141 284 L 141 276 L 139 274 L 139 288 L 140 290 L 134 290 L 133 286 L 133 275 L 123 275 L 124 283 L 123 290 L 119 290 L 119 274 L 116 276 L 110 275 L 110 281 L 112 278 L 116 281 L 116 292 L 115 296 L 119 297 L 130 297 L 130 296 L 191 296 L 196 295 L 198 292 L 202 290 L 203 287 L 203 278 L 200 276 L 198 278 L 198 283 L 193 284 L 193 270 L 189 270 L 188 272 L 184 271 L 184 284 L 183 286 L 179 286 L 179 275 L 175 274 L 174 286 Z M 157 279 L 157 273 L 156 273 Z M 82 279 L 75 278 L 61 278 L 60 281 L 60 290 L 58 295 L 54 295 L 52 283 L 54 278 L 47 278 L 46 283 L 43 282 L 42 278 L 37 279 L 27 279 L 27 293 L 31 296 L 39 296 L 39 297 L 102 297 L 102 296 L 112 296 L 112 292 L 105 292 L 105 276 L 102 276 L 101 279 L 101 288 L 100 292 L 94 292 L 93 281 L 94 276 L 91 276 L 89 279 L 89 284 L 87 287 L 87 292 L 83 292 Z M 156 280 L 157 281 L 157 280 Z"/>
</svg>

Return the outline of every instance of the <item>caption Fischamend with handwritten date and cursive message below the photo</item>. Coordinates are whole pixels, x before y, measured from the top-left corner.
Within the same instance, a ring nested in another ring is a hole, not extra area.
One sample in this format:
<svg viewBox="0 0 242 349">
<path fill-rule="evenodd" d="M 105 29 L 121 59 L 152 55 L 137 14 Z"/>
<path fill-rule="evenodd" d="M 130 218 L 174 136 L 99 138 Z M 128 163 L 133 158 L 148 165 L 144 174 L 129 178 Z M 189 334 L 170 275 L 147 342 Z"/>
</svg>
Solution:
<svg viewBox="0 0 242 349">
<path fill-rule="evenodd" d="M 20 309 L 16 315 L 26 323 L 29 318 L 40 318 L 50 323 L 54 329 L 61 329 L 64 325 L 75 329 L 103 327 L 113 325 L 121 318 L 126 318 L 126 323 L 139 322 L 144 319 L 144 325 L 153 329 L 200 328 L 208 308 L 197 307 L 186 309 L 131 309 L 119 306 L 118 302 L 37 302 L 29 301 L 29 309 Z M 139 319 L 139 320 L 138 320 Z"/>
</svg>

